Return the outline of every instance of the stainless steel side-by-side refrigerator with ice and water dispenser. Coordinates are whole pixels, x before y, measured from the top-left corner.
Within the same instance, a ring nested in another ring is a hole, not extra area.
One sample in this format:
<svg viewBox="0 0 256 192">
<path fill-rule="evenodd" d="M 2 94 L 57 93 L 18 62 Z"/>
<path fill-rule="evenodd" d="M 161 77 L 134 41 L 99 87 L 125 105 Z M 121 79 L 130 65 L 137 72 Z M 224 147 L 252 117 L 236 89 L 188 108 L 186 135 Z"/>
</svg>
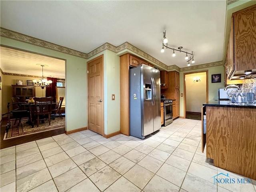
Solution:
<svg viewBox="0 0 256 192">
<path fill-rule="evenodd" d="M 138 138 L 161 128 L 160 71 L 142 64 L 130 69 L 130 135 Z"/>
</svg>

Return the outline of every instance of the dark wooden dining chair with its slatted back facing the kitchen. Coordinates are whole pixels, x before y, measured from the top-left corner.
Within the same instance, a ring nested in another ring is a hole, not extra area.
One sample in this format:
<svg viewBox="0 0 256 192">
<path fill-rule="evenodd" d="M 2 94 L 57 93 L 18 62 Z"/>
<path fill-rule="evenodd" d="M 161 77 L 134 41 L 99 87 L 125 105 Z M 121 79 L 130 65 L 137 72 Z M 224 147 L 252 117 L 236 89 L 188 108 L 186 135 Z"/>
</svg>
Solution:
<svg viewBox="0 0 256 192">
<path fill-rule="evenodd" d="M 37 119 L 36 125 L 39 126 L 39 120 L 46 119 L 46 116 L 48 116 L 49 125 L 51 125 L 53 97 L 33 97 L 33 99 L 35 104 L 32 113 Z"/>
</svg>

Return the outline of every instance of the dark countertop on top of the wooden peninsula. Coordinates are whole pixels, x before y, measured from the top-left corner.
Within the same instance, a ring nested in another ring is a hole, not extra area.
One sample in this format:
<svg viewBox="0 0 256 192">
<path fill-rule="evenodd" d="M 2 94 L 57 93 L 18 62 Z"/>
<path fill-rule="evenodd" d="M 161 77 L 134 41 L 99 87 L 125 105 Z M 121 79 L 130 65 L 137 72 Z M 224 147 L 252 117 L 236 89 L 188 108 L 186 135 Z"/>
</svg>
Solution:
<svg viewBox="0 0 256 192">
<path fill-rule="evenodd" d="M 256 108 L 256 104 L 229 103 L 229 101 L 213 99 L 203 104 L 203 106 L 212 107 L 238 107 L 238 108 Z"/>
</svg>

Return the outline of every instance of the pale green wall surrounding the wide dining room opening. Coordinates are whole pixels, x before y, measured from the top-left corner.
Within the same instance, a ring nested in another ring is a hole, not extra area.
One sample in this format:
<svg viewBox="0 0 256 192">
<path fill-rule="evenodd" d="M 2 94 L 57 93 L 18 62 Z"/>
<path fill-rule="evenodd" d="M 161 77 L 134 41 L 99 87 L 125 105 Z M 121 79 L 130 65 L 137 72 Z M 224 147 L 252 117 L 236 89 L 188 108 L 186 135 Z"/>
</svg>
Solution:
<svg viewBox="0 0 256 192">
<path fill-rule="evenodd" d="M 87 69 L 86 59 L 24 42 L 0 37 L 2 45 L 54 56 L 66 60 L 66 131 L 87 126 Z M 26 67 L 26 66 L 24 66 Z M 3 90 L 4 96 L 4 90 Z"/>
</svg>

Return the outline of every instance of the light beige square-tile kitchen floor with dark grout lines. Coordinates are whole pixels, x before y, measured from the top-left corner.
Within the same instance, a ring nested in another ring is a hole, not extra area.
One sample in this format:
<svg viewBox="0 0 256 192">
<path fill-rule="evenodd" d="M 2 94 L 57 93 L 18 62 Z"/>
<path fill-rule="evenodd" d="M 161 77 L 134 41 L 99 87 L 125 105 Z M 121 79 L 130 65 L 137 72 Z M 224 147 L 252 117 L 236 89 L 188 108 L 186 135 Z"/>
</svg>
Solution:
<svg viewBox="0 0 256 192">
<path fill-rule="evenodd" d="M 255 180 L 214 184 L 221 172 L 244 177 L 214 167 L 201 150 L 201 121 L 190 119 L 144 140 L 61 134 L 0 150 L 0 191 L 256 192 Z"/>
</svg>

